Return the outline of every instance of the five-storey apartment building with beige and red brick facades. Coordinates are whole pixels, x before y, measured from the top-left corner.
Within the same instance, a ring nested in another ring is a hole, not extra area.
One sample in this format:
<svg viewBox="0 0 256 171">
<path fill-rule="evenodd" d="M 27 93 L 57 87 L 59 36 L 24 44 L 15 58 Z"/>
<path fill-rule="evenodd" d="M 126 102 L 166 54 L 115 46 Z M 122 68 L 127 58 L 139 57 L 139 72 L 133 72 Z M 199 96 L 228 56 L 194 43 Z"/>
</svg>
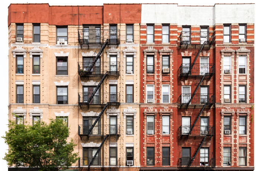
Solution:
<svg viewBox="0 0 256 171">
<path fill-rule="evenodd" d="M 253 16 L 10 4 L 9 119 L 66 121 L 80 171 L 254 170 Z"/>
</svg>

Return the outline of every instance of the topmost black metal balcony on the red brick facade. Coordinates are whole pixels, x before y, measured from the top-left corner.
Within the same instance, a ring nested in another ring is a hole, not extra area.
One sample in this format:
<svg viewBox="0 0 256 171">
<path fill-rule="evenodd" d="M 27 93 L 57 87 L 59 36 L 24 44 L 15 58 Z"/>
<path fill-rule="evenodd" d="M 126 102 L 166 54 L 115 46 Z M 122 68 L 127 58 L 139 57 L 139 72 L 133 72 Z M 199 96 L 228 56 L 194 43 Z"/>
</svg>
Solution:
<svg viewBox="0 0 256 171">
<path fill-rule="evenodd" d="M 211 47 L 215 42 L 215 31 L 182 31 L 179 36 L 179 47 L 202 46 L 205 41 L 206 46 Z"/>
</svg>

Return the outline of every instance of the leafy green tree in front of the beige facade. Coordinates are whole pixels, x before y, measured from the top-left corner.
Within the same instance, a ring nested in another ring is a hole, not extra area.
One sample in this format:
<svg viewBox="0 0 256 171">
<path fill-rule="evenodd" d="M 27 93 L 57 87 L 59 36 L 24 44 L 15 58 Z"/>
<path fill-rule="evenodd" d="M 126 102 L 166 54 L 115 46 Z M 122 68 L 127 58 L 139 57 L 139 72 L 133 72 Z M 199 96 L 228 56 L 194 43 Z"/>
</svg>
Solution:
<svg viewBox="0 0 256 171">
<path fill-rule="evenodd" d="M 67 142 L 69 128 L 63 120 L 50 120 L 49 124 L 36 122 L 32 125 L 17 125 L 9 121 L 5 143 L 9 151 L 3 158 L 9 165 L 24 165 L 41 171 L 67 169 L 79 158 L 74 150 L 73 139 Z"/>
</svg>

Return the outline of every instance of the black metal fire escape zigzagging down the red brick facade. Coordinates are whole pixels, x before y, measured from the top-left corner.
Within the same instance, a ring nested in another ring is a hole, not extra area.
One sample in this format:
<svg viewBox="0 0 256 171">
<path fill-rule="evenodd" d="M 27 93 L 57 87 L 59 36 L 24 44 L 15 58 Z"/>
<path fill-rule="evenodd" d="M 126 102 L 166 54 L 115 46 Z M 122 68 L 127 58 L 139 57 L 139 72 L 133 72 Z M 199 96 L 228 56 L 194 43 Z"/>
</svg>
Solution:
<svg viewBox="0 0 256 171">
<path fill-rule="evenodd" d="M 211 48 L 212 44 L 215 42 L 215 32 L 198 32 L 198 31 L 182 31 L 179 36 L 179 48 L 188 48 L 188 46 L 200 47 L 195 60 L 193 63 L 183 63 L 179 67 L 179 76 L 182 80 L 187 80 L 188 78 L 195 78 L 199 83 L 196 86 L 196 89 L 193 93 L 183 92 L 179 97 L 179 107 L 180 108 L 201 108 L 199 114 L 196 117 L 193 125 L 181 125 L 179 127 L 180 138 L 186 138 L 188 140 L 189 137 L 194 137 L 195 141 L 199 141 L 199 146 L 197 147 L 195 154 L 192 157 L 182 157 L 180 158 L 180 167 L 196 167 L 196 168 L 204 168 L 211 169 L 215 167 L 215 158 L 212 157 L 204 157 L 197 158 L 196 155 L 200 151 L 201 147 L 205 145 L 208 141 L 211 141 L 212 136 L 214 135 L 214 126 L 204 126 L 204 125 L 196 125 L 198 119 L 200 118 L 202 112 L 206 107 L 211 108 L 211 106 L 215 103 L 215 95 L 209 93 L 209 88 L 207 88 L 207 92 L 196 93 L 200 88 L 201 83 L 210 78 L 215 73 L 215 64 L 209 63 L 196 63 L 199 54 L 203 50 L 203 48 L 208 47 Z M 200 81 L 199 81 L 200 80 Z M 196 82 L 196 81 L 193 81 Z M 191 90 L 189 90 L 191 91 Z M 211 143 L 212 144 L 212 143 Z M 212 149 L 212 148 L 211 148 Z M 209 154 L 209 153 L 208 153 Z M 207 161 L 206 161 L 207 160 Z"/>
</svg>

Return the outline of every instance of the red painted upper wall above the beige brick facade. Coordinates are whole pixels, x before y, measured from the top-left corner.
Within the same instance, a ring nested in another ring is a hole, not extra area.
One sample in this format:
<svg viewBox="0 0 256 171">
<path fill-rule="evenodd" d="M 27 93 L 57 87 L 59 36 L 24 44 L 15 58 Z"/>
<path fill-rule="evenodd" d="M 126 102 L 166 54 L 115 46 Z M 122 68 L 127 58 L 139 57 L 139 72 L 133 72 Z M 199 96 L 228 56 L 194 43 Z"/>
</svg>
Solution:
<svg viewBox="0 0 256 171">
<path fill-rule="evenodd" d="M 10 23 L 49 23 L 49 25 L 67 26 L 103 23 L 133 24 L 140 22 L 141 4 L 104 4 L 104 6 L 10 4 L 8 11 L 8 26 Z"/>
</svg>

